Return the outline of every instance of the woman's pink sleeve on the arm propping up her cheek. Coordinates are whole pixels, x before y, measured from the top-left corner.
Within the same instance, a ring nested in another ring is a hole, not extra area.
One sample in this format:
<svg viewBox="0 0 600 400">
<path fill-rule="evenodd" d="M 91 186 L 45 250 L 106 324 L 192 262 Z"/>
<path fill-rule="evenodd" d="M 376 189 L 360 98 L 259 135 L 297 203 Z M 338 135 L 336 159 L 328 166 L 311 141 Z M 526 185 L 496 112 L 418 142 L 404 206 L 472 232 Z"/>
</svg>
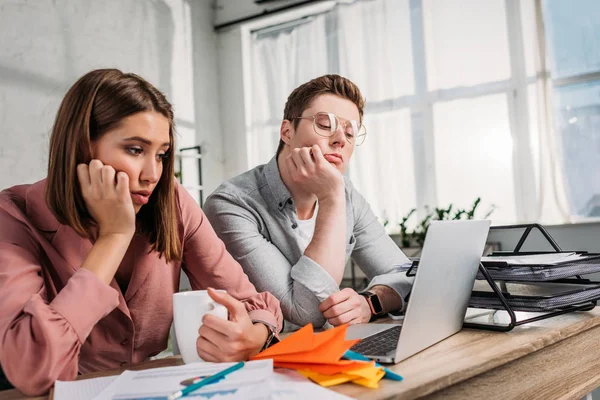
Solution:
<svg viewBox="0 0 600 400">
<path fill-rule="evenodd" d="M 0 227 L 0 364 L 17 389 L 40 395 L 57 379 L 75 379 L 81 345 L 118 293 L 79 269 L 49 301 L 28 228 L 2 210 Z"/>
</svg>

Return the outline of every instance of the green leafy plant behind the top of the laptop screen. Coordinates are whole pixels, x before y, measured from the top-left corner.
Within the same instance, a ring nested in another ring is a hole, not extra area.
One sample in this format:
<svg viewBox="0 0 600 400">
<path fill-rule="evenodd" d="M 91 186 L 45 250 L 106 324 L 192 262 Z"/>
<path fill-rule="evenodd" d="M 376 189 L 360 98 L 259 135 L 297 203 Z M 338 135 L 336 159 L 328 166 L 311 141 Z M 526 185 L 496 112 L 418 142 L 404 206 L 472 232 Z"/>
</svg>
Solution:
<svg viewBox="0 0 600 400">
<path fill-rule="evenodd" d="M 427 215 L 425 215 L 425 217 L 417 223 L 415 228 L 410 231 L 407 223 L 416 211 L 416 208 L 413 208 L 402 218 L 402 221 L 398 223 L 400 226 L 400 243 L 402 247 L 422 247 L 425 243 L 425 236 L 427 236 L 427 229 L 429 228 L 431 221 L 474 219 L 475 212 L 480 204 L 481 198 L 478 197 L 469 209 L 454 208 L 454 205 L 450 204 L 448 208 L 436 207 L 433 211 L 430 211 L 429 207 L 425 206 Z M 492 204 L 482 219 L 489 217 L 495 209 L 496 206 Z"/>
</svg>

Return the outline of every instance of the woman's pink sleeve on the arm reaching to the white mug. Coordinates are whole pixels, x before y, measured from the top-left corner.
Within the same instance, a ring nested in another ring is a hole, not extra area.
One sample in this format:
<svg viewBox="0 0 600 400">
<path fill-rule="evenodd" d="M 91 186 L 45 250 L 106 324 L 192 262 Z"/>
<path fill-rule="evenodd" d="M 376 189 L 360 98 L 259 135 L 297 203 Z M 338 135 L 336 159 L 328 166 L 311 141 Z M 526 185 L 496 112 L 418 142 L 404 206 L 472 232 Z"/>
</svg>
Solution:
<svg viewBox="0 0 600 400">
<path fill-rule="evenodd" d="M 219 239 L 202 209 L 177 186 L 183 224 L 183 265 L 192 289 L 225 289 L 239 299 L 253 321 L 262 322 L 279 332 L 283 316 L 279 301 L 271 293 L 258 293 L 242 267 Z"/>
</svg>

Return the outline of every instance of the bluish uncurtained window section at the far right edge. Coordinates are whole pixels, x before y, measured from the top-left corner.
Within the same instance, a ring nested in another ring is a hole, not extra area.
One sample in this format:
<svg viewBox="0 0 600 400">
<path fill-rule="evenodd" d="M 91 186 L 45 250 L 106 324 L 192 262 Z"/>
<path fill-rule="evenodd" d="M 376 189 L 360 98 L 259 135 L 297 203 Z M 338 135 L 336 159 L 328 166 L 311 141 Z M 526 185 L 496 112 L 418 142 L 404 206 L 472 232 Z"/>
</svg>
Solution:
<svg viewBox="0 0 600 400">
<path fill-rule="evenodd" d="M 571 215 L 600 217 L 600 2 L 544 2 L 560 160 Z"/>
</svg>

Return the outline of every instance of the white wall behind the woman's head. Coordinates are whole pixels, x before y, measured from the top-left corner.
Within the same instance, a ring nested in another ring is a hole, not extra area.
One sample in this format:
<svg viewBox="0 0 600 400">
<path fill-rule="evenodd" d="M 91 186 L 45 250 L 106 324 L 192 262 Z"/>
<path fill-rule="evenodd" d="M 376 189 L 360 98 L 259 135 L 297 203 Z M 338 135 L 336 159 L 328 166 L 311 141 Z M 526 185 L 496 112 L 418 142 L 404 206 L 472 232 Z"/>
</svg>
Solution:
<svg viewBox="0 0 600 400">
<path fill-rule="evenodd" d="M 204 146 L 214 190 L 223 151 L 212 21 L 209 0 L 0 0 L 0 189 L 45 177 L 62 96 L 89 70 L 116 67 L 165 92 L 178 145 Z"/>
</svg>

